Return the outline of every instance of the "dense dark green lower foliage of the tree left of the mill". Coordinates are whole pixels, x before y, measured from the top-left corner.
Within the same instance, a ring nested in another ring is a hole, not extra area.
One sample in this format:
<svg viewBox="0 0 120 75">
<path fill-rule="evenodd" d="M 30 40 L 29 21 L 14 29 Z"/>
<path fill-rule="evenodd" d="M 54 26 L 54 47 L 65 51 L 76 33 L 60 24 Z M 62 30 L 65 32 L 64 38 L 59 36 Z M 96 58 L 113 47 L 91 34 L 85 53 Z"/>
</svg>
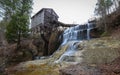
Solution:
<svg viewBox="0 0 120 75">
<path fill-rule="evenodd" d="M 28 33 L 28 22 L 26 16 L 18 13 L 12 16 L 6 28 L 6 38 L 9 42 L 17 41 L 18 36 L 25 37 Z"/>
</svg>

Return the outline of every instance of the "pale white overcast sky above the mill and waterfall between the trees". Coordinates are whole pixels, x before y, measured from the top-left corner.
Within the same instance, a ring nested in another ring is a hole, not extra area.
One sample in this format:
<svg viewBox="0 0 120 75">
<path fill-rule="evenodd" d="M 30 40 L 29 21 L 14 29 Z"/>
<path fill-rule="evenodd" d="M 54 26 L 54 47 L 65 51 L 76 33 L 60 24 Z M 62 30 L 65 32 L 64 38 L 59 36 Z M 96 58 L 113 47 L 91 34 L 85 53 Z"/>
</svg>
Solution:
<svg viewBox="0 0 120 75">
<path fill-rule="evenodd" d="M 33 0 L 33 14 L 42 8 L 52 8 L 63 23 L 81 24 L 93 17 L 97 0 Z"/>
</svg>

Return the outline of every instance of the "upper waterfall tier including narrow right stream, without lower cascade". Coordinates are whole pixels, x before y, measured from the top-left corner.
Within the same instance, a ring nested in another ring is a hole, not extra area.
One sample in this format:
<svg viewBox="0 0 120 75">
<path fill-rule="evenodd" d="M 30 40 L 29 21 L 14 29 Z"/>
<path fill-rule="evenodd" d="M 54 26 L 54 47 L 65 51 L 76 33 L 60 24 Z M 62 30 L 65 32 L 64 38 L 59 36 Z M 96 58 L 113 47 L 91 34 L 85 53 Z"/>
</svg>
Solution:
<svg viewBox="0 0 120 75">
<path fill-rule="evenodd" d="M 75 27 L 67 28 L 63 33 L 63 43 L 66 44 L 68 41 L 73 40 L 89 40 L 90 30 L 94 28 L 94 24 L 87 23 L 84 25 L 76 25 Z"/>
</svg>

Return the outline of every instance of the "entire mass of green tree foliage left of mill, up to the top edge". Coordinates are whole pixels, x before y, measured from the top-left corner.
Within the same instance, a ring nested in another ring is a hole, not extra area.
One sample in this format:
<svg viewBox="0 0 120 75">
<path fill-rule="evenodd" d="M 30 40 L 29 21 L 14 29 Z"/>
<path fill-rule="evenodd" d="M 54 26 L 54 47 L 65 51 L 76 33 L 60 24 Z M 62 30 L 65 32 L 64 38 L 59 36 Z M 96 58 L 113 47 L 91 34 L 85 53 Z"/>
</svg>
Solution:
<svg viewBox="0 0 120 75">
<path fill-rule="evenodd" d="M 0 0 L 0 8 L 5 11 L 4 20 L 9 22 L 6 37 L 9 42 L 20 42 L 28 36 L 29 18 L 33 0 Z"/>
</svg>

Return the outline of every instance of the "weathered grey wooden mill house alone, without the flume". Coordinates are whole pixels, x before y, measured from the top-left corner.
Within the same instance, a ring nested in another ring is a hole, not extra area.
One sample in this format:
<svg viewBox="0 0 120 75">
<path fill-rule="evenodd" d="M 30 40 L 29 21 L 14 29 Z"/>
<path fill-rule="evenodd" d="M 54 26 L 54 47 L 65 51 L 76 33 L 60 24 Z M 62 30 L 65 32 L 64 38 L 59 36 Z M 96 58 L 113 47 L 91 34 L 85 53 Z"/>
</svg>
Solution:
<svg viewBox="0 0 120 75">
<path fill-rule="evenodd" d="M 40 30 L 50 29 L 53 24 L 51 22 L 58 21 L 59 16 L 51 8 L 43 8 L 31 18 L 32 33 L 40 32 Z"/>
</svg>

